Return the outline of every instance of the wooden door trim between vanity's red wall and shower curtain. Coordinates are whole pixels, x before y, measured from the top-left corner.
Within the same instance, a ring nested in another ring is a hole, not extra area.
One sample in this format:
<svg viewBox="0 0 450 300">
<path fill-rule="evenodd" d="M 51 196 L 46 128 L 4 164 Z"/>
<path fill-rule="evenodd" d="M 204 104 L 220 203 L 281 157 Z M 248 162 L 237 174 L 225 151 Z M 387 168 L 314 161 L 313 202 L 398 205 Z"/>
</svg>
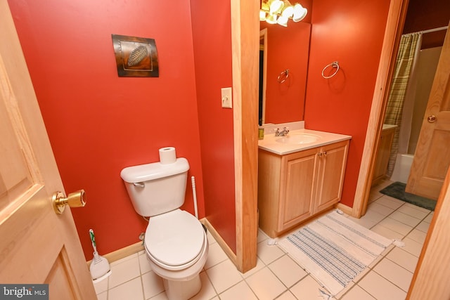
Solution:
<svg viewBox="0 0 450 300">
<path fill-rule="evenodd" d="M 385 38 L 383 40 L 380 64 L 378 65 L 378 74 L 375 81 L 371 115 L 368 119 L 366 141 L 364 143 L 361 167 L 359 169 L 356 193 L 354 195 L 352 216 L 355 218 L 360 218 L 366 214 L 375 156 L 380 141 L 390 82 L 392 73 L 394 72 L 395 60 L 397 59 L 397 51 L 407 8 L 408 0 L 393 0 L 390 3 L 389 14 L 387 15 Z"/>
</svg>

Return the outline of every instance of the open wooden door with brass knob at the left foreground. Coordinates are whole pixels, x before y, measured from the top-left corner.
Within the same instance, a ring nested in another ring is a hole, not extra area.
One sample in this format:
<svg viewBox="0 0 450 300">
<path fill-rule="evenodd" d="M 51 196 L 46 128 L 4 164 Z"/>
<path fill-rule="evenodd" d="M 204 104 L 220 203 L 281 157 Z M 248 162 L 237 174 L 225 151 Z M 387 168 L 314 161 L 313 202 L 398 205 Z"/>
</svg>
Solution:
<svg viewBox="0 0 450 300">
<path fill-rule="evenodd" d="M 0 284 L 96 299 L 70 209 L 57 215 L 51 205 L 63 184 L 6 0 L 0 32 Z"/>
</svg>

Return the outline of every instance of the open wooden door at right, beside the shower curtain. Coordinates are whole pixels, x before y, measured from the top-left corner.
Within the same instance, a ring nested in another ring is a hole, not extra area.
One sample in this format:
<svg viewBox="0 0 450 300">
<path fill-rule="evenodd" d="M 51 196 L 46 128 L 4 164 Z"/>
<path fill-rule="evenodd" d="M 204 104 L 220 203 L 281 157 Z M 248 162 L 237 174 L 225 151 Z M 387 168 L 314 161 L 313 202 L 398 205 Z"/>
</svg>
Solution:
<svg viewBox="0 0 450 300">
<path fill-rule="evenodd" d="M 450 34 L 446 34 L 406 192 L 437 200 L 450 165 Z"/>
</svg>

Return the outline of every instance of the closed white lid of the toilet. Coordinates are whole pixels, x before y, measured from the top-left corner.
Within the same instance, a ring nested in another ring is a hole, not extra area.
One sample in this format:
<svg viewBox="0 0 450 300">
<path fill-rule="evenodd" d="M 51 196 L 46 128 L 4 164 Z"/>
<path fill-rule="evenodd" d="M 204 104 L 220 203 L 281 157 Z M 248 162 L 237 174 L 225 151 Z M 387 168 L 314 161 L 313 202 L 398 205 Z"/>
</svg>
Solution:
<svg viewBox="0 0 450 300">
<path fill-rule="evenodd" d="M 181 266 L 200 254 L 204 239 L 200 221 L 176 209 L 150 218 L 145 243 L 153 258 L 168 266 Z"/>
</svg>

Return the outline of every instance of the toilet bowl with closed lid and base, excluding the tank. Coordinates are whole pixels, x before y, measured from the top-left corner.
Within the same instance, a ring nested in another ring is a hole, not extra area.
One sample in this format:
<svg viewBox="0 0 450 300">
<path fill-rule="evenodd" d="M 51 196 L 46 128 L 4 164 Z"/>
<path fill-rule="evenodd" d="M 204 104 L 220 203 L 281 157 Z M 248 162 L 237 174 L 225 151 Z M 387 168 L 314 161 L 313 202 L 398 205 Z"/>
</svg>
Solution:
<svg viewBox="0 0 450 300">
<path fill-rule="evenodd" d="M 153 216 L 144 246 L 150 267 L 162 278 L 169 299 L 189 299 L 200 291 L 199 274 L 207 260 L 208 241 L 193 215 L 176 209 Z"/>
</svg>

